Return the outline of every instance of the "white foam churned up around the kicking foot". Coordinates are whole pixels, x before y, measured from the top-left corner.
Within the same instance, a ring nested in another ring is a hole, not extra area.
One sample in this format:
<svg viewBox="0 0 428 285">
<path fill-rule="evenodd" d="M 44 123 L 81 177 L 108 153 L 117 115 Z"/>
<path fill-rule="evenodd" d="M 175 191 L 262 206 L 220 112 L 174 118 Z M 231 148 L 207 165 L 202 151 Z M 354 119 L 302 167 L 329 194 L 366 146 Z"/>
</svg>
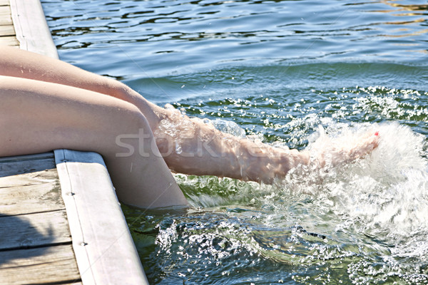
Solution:
<svg viewBox="0 0 428 285">
<path fill-rule="evenodd" d="M 337 228 L 360 227 L 367 234 L 401 240 L 428 229 L 428 172 L 424 138 L 398 123 L 370 125 L 379 131 L 379 147 L 370 155 L 322 177 L 321 185 L 310 186 L 319 202 L 342 215 Z M 342 134 L 359 133 L 367 125 L 348 128 Z M 327 143 L 325 133 L 318 140 Z M 342 135 L 337 140 L 347 143 Z M 349 136 L 352 140 L 352 135 Z M 319 143 L 319 141 L 313 142 Z M 312 145 L 310 145 L 312 147 Z M 316 193 L 317 191 L 320 191 Z M 306 191 L 307 192 L 307 191 Z"/>
</svg>

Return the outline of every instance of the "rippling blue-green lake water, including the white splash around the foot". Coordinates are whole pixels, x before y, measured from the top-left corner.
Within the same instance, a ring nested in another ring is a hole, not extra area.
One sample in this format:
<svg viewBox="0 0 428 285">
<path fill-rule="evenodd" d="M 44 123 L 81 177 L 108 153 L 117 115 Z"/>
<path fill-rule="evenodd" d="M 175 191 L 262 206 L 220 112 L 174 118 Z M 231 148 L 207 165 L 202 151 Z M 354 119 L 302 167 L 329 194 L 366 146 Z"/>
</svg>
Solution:
<svg viewBox="0 0 428 285">
<path fill-rule="evenodd" d="M 63 61 L 159 105 L 300 150 L 379 131 L 349 165 L 124 206 L 151 284 L 428 284 L 426 1 L 42 3 Z"/>
</svg>

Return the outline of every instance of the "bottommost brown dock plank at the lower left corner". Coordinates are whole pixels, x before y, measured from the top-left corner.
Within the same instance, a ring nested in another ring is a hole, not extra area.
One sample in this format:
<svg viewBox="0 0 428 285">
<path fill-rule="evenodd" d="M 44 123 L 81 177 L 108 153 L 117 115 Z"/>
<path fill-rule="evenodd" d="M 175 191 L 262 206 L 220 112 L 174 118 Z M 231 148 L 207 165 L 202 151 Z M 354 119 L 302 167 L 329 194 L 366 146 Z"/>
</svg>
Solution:
<svg viewBox="0 0 428 285">
<path fill-rule="evenodd" d="M 81 281 L 71 245 L 0 252 L 1 284 Z"/>
</svg>

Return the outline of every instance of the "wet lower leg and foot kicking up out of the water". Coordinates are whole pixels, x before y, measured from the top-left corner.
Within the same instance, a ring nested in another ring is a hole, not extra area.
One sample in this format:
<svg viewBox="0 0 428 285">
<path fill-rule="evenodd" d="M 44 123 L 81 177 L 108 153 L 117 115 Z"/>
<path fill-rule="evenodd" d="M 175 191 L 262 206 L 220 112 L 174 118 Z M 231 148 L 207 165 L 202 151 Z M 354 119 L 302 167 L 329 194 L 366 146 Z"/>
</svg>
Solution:
<svg viewBox="0 0 428 285">
<path fill-rule="evenodd" d="M 351 162 L 369 154 L 379 143 L 373 132 L 352 142 L 331 141 L 312 150 L 290 150 L 221 133 L 213 125 L 189 119 L 178 111 L 161 121 L 154 134 L 171 170 L 265 183 L 285 177 L 298 165 L 315 170 Z"/>
</svg>

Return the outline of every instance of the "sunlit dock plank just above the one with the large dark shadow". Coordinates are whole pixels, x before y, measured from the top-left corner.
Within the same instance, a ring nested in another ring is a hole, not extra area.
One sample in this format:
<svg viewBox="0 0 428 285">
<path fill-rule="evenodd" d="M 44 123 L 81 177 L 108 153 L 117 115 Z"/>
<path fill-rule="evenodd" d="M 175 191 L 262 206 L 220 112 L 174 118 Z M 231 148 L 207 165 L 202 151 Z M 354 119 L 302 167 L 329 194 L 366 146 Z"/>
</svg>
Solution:
<svg viewBox="0 0 428 285">
<path fill-rule="evenodd" d="M 0 217 L 65 209 L 56 169 L 0 177 Z"/>
</svg>

